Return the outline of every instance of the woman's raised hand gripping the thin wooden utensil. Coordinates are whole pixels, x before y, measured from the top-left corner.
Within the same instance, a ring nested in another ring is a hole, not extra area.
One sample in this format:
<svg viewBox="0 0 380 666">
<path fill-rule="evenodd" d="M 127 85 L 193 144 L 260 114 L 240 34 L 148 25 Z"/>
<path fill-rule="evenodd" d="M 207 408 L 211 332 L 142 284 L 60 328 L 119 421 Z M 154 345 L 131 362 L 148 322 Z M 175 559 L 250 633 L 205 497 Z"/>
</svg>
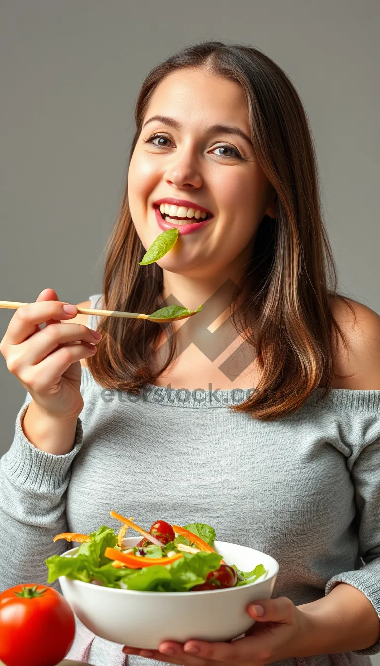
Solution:
<svg viewBox="0 0 380 666">
<path fill-rule="evenodd" d="M 36 302 L 16 310 L 0 343 L 8 370 L 39 410 L 62 420 L 76 418 L 83 410 L 80 359 L 93 356 L 101 339 L 84 324 L 61 322 L 77 315 L 77 307 L 71 308 L 74 312 L 65 312 L 57 293 L 44 289 Z M 46 326 L 40 329 L 43 322 Z"/>
</svg>

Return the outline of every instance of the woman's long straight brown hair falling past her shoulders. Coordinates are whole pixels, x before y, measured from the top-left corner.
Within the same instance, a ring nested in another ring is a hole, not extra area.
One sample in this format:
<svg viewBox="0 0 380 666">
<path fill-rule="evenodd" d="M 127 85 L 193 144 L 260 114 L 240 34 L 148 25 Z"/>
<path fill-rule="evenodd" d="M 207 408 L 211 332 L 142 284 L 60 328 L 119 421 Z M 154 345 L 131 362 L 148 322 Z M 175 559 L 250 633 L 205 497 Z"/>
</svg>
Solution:
<svg viewBox="0 0 380 666">
<path fill-rule="evenodd" d="M 337 269 L 321 217 L 313 140 L 299 95 L 278 65 L 254 47 L 207 41 L 168 57 L 144 80 L 129 159 L 154 90 L 170 73 L 190 67 L 204 67 L 242 86 L 256 156 L 277 192 L 277 216 L 264 216 L 246 274 L 230 304 L 230 321 L 241 334 L 250 331 L 247 342 L 254 347 L 262 371 L 256 392 L 230 408 L 274 420 L 301 408 L 315 388 L 325 389 L 321 398 L 332 388 L 333 377 L 339 376 L 334 374 L 333 333 L 336 343 L 341 336 L 347 350 L 329 307 L 329 298 L 346 299 L 337 294 Z M 127 192 L 126 184 L 106 247 L 102 306 L 154 312 L 166 304 L 163 272 L 156 263 L 138 265 L 146 248 L 134 228 Z M 238 293 L 242 306 L 234 309 Z M 169 354 L 155 368 L 152 349 L 163 327 Z M 87 364 L 104 388 L 140 393 L 145 384 L 154 384 L 174 357 L 171 324 L 108 317 L 100 320 L 100 328 L 106 335 Z"/>
</svg>

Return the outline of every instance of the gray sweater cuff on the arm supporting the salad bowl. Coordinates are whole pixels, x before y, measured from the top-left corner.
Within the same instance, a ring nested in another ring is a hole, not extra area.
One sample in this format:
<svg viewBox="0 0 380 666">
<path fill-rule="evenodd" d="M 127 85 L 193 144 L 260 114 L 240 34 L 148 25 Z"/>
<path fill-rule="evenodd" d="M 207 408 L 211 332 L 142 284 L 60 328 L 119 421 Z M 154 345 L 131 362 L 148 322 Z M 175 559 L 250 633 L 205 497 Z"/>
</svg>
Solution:
<svg viewBox="0 0 380 666">
<path fill-rule="evenodd" d="M 348 583 L 359 589 L 373 605 L 380 621 L 380 585 L 379 559 L 374 559 L 356 571 L 345 571 L 330 578 L 325 586 L 325 595 L 331 592 L 338 583 Z M 380 652 L 380 639 L 371 647 L 363 650 L 352 650 L 356 655 L 377 655 Z"/>
</svg>

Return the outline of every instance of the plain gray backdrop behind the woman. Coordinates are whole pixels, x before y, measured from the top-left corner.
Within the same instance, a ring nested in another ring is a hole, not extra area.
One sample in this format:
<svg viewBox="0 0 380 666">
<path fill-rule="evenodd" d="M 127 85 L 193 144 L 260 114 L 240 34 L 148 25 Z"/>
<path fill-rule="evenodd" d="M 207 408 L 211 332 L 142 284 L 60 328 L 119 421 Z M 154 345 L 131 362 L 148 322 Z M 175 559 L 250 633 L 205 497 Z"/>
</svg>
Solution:
<svg viewBox="0 0 380 666">
<path fill-rule="evenodd" d="M 378 0 L 1 0 L 0 300 L 102 290 L 149 69 L 202 39 L 263 49 L 311 122 L 340 288 L 380 312 Z M 14 310 L 0 310 L 0 339 Z M 25 390 L 0 356 L 0 455 Z M 380 657 L 373 662 L 380 665 Z"/>
</svg>

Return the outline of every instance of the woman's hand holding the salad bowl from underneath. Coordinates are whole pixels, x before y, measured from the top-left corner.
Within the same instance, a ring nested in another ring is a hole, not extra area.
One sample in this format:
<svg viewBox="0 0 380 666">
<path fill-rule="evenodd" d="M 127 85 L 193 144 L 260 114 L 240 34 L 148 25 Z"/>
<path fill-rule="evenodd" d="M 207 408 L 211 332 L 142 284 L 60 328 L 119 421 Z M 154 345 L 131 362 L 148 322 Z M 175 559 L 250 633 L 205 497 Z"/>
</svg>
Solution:
<svg viewBox="0 0 380 666">
<path fill-rule="evenodd" d="M 258 605 L 264 609 L 263 615 L 256 612 L 255 607 Z M 123 652 L 184 666 L 216 666 L 226 663 L 263 666 L 279 659 L 305 656 L 303 650 L 311 628 L 307 614 L 295 606 L 291 599 L 261 599 L 251 603 L 247 611 L 256 620 L 256 624 L 247 631 L 244 638 L 229 643 L 191 640 L 182 645 L 175 641 L 164 641 L 159 650 L 124 647 Z"/>
</svg>

